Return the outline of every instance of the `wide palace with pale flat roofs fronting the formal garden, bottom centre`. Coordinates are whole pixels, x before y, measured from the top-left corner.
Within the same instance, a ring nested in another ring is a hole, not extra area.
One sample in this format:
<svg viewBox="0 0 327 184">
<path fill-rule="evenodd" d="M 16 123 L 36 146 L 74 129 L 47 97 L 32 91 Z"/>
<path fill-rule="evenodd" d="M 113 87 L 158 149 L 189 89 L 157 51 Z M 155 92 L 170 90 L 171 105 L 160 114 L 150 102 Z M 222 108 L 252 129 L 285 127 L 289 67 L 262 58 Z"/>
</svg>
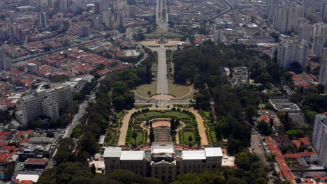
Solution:
<svg viewBox="0 0 327 184">
<path fill-rule="evenodd" d="M 106 174 L 117 169 L 128 169 L 142 176 L 175 181 L 178 174 L 201 172 L 221 167 L 221 148 L 183 151 L 173 145 L 152 145 L 145 151 L 122 151 L 108 147 L 103 154 Z"/>
</svg>

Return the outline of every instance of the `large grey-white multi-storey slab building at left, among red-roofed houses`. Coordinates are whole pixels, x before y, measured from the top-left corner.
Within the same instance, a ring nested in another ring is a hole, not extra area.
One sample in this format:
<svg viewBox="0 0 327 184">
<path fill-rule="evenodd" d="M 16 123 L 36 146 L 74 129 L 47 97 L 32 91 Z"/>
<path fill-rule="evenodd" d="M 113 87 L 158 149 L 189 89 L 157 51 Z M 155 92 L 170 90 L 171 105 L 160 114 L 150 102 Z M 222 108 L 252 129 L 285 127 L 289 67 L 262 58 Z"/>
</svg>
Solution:
<svg viewBox="0 0 327 184">
<path fill-rule="evenodd" d="M 69 84 L 41 84 L 30 95 L 20 98 L 23 123 L 28 123 L 45 115 L 58 116 L 58 109 L 71 105 L 73 95 Z"/>
</svg>

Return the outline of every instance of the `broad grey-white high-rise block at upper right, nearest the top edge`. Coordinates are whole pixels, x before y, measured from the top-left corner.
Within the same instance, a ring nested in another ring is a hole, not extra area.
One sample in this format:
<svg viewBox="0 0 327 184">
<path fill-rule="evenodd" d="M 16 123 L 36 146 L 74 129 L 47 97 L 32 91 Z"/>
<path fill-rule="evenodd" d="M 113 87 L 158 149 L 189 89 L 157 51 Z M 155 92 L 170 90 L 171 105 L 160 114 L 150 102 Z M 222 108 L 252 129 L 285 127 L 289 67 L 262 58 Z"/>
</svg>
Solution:
<svg viewBox="0 0 327 184">
<path fill-rule="evenodd" d="M 286 33 L 296 29 L 297 20 L 303 17 L 304 11 L 301 6 L 278 6 L 274 9 L 273 24 L 275 29 Z"/>
</svg>

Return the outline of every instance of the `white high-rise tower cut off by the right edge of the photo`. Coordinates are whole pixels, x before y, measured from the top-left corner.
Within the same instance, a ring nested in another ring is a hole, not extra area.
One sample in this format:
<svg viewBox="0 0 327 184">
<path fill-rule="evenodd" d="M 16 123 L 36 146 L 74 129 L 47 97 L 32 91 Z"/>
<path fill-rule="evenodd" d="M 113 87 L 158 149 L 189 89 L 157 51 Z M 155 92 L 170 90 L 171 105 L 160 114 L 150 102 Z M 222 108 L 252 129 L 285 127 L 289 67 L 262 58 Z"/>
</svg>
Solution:
<svg viewBox="0 0 327 184">
<path fill-rule="evenodd" d="M 314 119 L 314 130 L 312 132 L 312 146 L 319 152 L 318 162 L 327 167 L 327 116 L 317 114 Z"/>
</svg>

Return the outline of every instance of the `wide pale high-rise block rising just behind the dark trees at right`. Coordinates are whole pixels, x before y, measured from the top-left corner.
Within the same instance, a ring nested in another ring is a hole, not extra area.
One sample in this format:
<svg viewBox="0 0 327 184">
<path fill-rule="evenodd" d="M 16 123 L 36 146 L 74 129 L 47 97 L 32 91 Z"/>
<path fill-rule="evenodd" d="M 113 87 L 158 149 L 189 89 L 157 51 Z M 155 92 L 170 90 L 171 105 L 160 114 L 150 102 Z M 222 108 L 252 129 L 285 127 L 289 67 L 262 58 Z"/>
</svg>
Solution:
<svg viewBox="0 0 327 184">
<path fill-rule="evenodd" d="M 302 68 L 307 67 L 307 55 L 309 45 L 307 40 L 296 43 L 293 40 L 286 40 L 277 46 L 277 63 L 280 67 L 287 69 L 291 63 L 298 62 Z"/>
</svg>

